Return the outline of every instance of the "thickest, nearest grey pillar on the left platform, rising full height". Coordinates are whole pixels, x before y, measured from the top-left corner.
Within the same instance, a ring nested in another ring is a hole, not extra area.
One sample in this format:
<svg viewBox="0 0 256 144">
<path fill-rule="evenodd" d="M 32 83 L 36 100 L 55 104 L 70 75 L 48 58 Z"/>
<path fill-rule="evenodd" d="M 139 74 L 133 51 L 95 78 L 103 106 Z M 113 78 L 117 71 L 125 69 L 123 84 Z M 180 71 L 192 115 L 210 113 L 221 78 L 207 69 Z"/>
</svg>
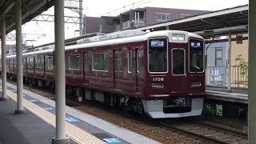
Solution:
<svg viewBox="0 0 256 144">
<path fill-rule="evenodd" d="M 56 95 L 56 138 L 53 144 L 68 144 L 66 137 L 66 87 L 65 87 L 65 29 L 64 29 L 64 1 L 54 0 L 54 28 L 55 28 L 55 95 Z"/>
</svg>

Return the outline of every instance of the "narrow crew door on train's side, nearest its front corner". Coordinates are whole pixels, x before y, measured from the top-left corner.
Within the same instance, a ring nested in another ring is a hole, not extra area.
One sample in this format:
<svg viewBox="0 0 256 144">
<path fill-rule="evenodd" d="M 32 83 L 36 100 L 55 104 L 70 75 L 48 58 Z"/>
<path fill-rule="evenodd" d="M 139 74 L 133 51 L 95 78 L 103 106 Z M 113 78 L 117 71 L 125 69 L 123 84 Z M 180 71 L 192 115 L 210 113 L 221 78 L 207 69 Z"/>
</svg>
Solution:
<svg viewBox="0 0 256 144">
<path fill-rule="evenodd" d="M 140 50 L 135 49 L 135 90 L 140 92 L 140 77 L 141 77 L 141 56 Z"/>
</svg>

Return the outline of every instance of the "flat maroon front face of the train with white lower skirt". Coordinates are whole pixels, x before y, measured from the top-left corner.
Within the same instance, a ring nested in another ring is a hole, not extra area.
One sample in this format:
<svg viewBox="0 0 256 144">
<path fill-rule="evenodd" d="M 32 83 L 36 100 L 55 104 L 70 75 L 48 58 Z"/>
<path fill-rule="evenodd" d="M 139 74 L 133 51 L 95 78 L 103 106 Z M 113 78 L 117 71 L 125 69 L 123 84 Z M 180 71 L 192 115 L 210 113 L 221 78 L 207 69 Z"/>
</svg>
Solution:
<svg viewBox="0 0 256 144">
<path fill-rule="evenodd" d="M 205 94 L 204 40 L 185 31 L 166 33 L 147 41 L 144 111 L 151 118 L 201 115 Z"/>
</svg>

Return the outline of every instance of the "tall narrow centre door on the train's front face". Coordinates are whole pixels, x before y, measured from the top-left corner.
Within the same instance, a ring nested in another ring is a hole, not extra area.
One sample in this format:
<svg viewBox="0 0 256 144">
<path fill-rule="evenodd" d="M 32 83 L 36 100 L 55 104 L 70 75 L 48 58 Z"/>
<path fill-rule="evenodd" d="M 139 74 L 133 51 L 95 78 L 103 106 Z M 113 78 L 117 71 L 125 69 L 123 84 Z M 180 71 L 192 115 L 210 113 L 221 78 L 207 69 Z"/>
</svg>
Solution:
<svg viewBox="0 0 256 144">
<path fill-rule="evenodd" d="M 171 50 L 172 93 L 186 93 L 186 50 L 173 48 Z"/>
</svg>

